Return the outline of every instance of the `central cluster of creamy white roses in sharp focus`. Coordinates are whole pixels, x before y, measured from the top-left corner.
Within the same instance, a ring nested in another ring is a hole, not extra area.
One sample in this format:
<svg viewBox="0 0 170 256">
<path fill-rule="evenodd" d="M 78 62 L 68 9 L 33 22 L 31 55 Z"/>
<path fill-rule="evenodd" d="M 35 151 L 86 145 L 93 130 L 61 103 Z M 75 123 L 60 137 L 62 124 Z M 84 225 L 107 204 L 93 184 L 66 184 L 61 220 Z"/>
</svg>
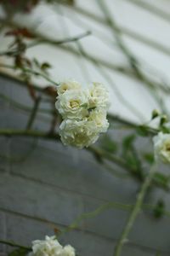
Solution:
<svg viewBox="0 0 170 256">
<path fill-rule="evenodd" d="M 58 86 L 55 107 L 63 121 L 59 126 L 62 143 L 88 147 L 106 132 L 109 122 L 106 118 L 109 108 L 109 92 L 103 84 L 93 83 L 83 90 L 74 80 L 65 81 Z"/>
</svg>

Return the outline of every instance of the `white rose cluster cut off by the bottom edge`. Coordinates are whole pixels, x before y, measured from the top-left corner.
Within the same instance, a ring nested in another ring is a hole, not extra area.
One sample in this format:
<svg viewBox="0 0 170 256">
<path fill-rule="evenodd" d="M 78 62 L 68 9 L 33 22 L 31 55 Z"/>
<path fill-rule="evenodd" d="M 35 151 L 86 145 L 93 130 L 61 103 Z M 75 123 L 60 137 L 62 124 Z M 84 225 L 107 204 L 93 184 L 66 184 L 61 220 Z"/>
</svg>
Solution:
<svg viewBox="0 0 170 256">
<path fill-rule="evenodd" d="M 75 256 L 70 245 L 62 247 L 55 236 L 45 236 L 45 240 L 32 241 L 32 253 L 29 256 Z"/>
</svg>

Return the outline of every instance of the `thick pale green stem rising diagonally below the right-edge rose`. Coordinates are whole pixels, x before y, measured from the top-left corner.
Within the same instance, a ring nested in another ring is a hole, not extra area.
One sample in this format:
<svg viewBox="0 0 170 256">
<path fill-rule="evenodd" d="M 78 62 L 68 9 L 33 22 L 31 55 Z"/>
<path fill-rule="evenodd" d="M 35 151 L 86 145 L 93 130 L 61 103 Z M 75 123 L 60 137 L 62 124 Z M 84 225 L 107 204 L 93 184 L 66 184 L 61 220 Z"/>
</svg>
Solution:
<svg viewBox="0 0 170 256">
<path fill-rule="evenodd" d="M 124 229 L 122 230 L 122 235 L 115 247 L 113 256 L 120 256 L 122 253 L 123 244 L 126 242 L 127 236 L 133 227 L 133 223 L 141 210 L 141 207 L 142 207 L 142 204 L 144 201 L 144 195 L 146 195 L 146 192 L 147 192 L 148 188 L 150 187 L 150 183 L 152 181 L 152 177 L 154 175 L 155 170 L 156 170 L 156 166 L 153 165 L 150 168 L 150 172 L 148 173 L 147 177 L 145 177 L 144 183 L 142 184 L 141 189 L 139 191 L 139 195 L 137 196 L 137 201 L 133 207 L 133 210 L 132 210 L 129 218 L 127 219 L 127 224 L 125 225 Z"/>
</svg>

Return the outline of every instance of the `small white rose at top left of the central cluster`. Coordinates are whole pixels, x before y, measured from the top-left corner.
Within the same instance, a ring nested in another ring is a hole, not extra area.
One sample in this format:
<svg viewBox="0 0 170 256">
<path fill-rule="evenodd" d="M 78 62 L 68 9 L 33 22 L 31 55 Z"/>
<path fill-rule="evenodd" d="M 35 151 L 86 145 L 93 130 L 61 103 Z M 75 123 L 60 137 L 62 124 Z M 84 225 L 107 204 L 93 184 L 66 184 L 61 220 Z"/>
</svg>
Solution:
<svg viewBox="0 0 170 256">
<path fill-rule="evenodd" d="M 57 86 L 57 92 L 58 94 L 63 94 L 65 93 L 66 90 L 80 90 L 81 89 L 81 84 L 79 84 L 77 81 L 75 80 L 66 80 L 64 82 L 62 82 L 61 84 L 59 84 L 59 86 Z"/>
</svg>

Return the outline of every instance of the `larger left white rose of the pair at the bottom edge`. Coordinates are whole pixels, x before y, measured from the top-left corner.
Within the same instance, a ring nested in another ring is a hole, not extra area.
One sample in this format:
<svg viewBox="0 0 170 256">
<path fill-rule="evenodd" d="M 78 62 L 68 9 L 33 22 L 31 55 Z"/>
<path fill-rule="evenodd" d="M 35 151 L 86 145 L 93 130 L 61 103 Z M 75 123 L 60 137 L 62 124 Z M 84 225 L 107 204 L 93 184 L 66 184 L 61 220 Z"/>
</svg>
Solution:
<svg viewBox="0 0 170 256">
<path fill-rule="evenodd" d="M 36 240 L 32 244 L 34 256 L 57 256 L 62 253 L 63 247 L 55 239 L 55 236 L 45 236 L 45 240 Z"/>
</svg>

